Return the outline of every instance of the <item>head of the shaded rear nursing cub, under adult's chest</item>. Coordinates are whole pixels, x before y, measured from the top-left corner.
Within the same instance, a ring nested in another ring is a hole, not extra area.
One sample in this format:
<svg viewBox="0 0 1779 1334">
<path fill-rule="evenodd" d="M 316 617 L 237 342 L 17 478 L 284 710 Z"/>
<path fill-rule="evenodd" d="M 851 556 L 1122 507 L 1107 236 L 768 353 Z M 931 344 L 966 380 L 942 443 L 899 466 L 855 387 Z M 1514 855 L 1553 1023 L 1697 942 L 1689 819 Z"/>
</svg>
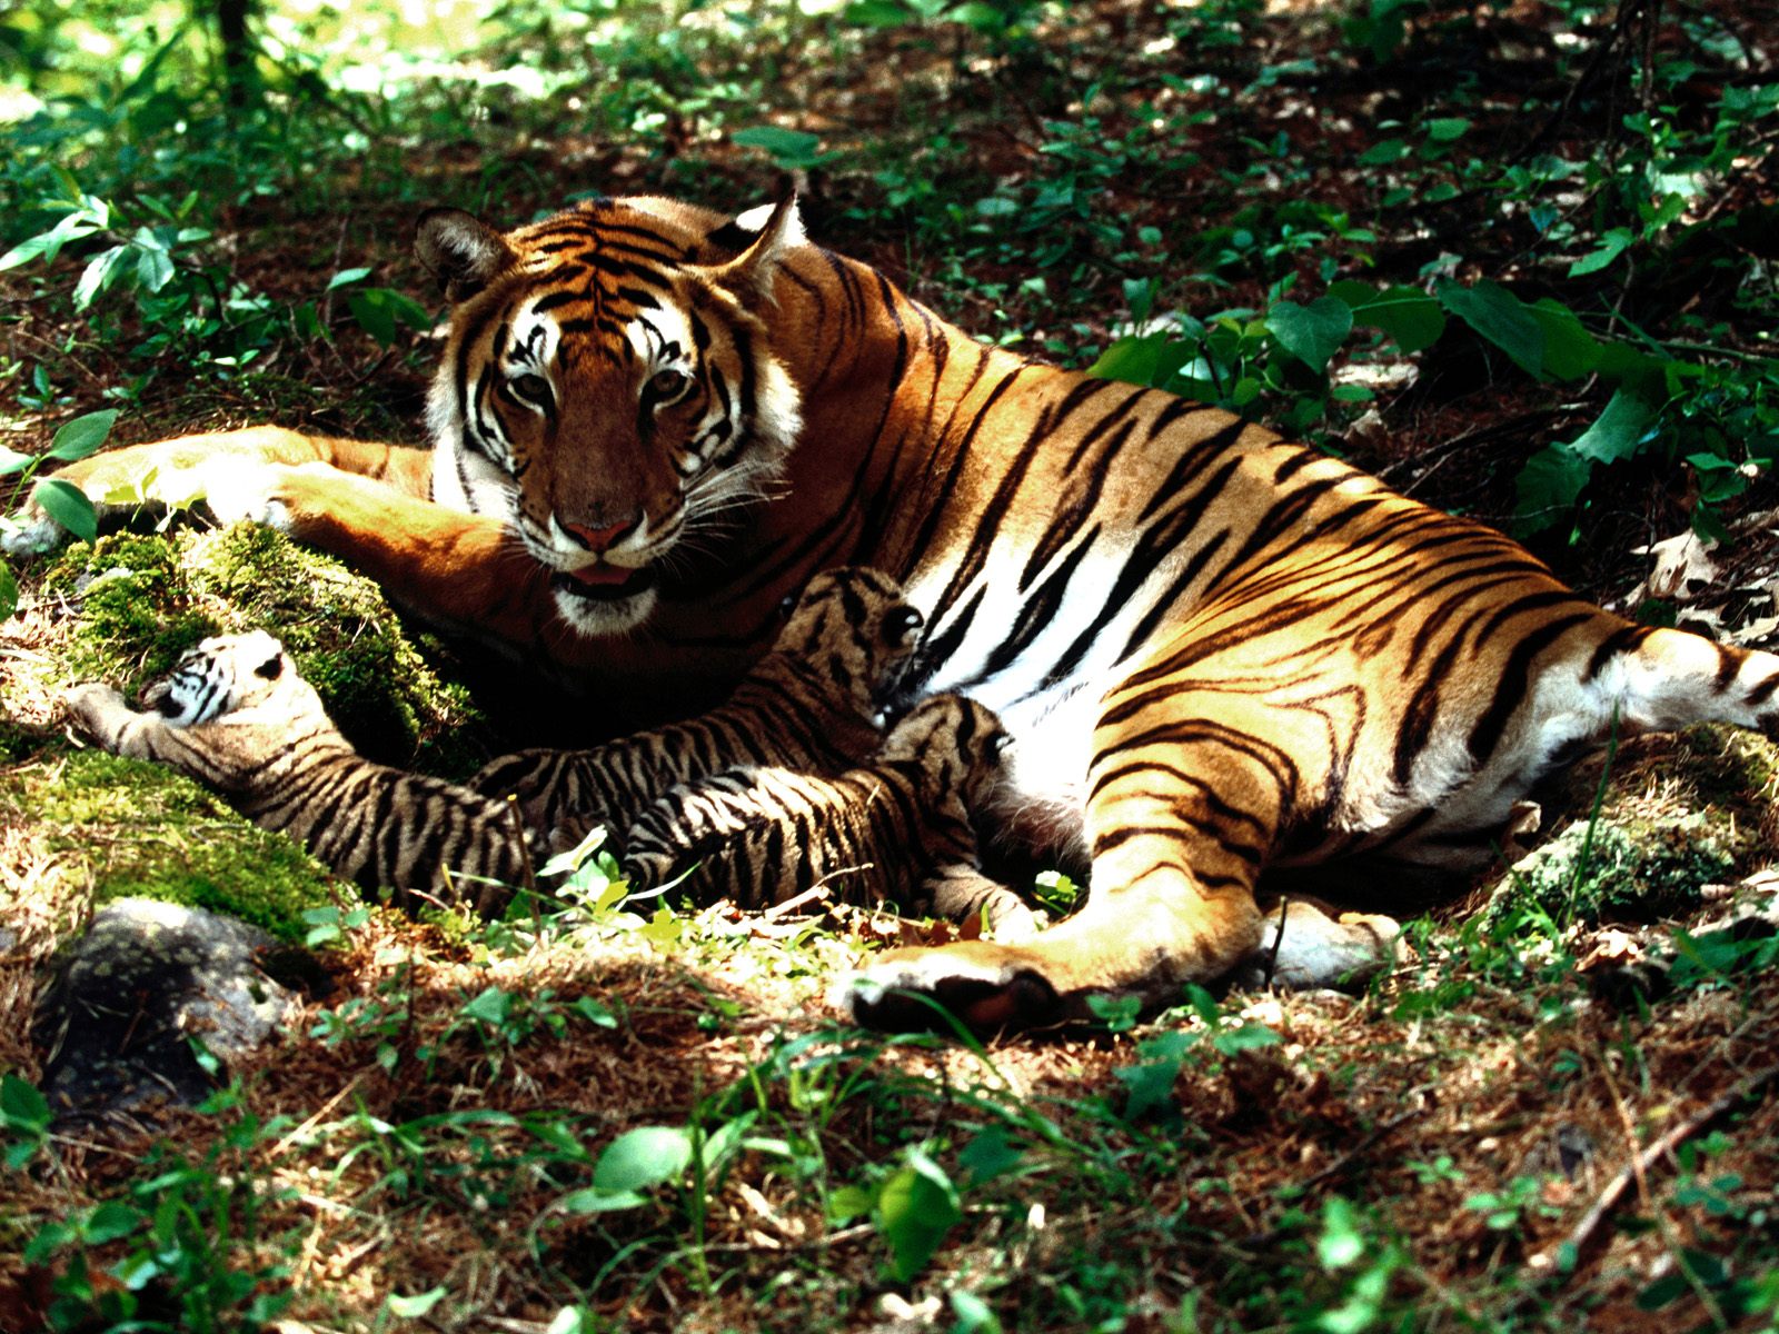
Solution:
<svg viewBox="0 0 1779 1334">
<path fill-rule="evenodd" d="M 772 651 L 811 667 L 870 717 L 893 694 L 922 623 L 893 578 L 841 566 L 804 585 Z"/>
</svg>

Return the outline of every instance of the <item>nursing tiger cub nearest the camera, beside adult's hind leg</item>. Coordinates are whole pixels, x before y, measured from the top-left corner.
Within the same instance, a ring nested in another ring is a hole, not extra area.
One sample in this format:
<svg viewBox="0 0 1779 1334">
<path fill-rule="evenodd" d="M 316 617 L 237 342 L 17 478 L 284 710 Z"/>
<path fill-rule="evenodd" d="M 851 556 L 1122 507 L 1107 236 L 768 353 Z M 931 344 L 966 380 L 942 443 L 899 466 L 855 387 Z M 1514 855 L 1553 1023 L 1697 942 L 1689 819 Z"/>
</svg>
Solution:
<svg viewBox="0 0 1779 1334">
<path fill-rule="evenodd" d="M 987 708 L 934 695 L 866 765 L 834 777 L 745 767 L 674 788 L 630 827 L 624 864 L 639 882 L 664 884 L 696 863 L 696 896 L 744 907 L 834 880 L 852 889 L 841 896 L 868 888 L 954 920 L 986 912 L 996 936 L 1025 937 L 1037 921 L 982 875 L 970 820 L 993 797 L 1005 745 Z"/>
</svg>

